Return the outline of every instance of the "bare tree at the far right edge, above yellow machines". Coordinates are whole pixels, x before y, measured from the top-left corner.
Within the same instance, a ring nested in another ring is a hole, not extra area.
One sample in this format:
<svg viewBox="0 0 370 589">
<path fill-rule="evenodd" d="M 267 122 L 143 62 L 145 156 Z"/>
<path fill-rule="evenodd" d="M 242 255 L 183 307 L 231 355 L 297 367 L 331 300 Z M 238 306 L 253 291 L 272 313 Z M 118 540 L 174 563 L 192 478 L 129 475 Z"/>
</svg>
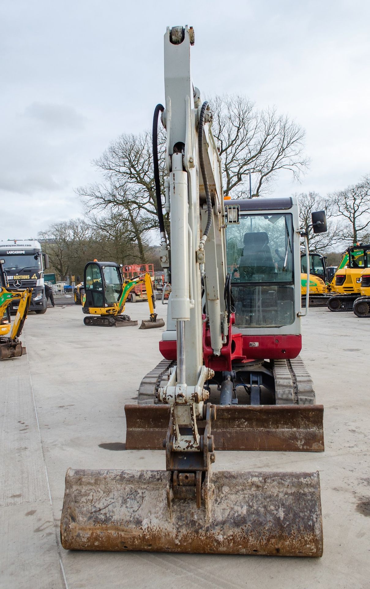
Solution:
<svg viewBox="0 0 370 589">
<path fill-rule="evenodd" d="M 334 215 L 347 220 L 342 237 L 352 243 L 366 239 L 370 227 L 370 176 L 364 176 L 358 184 L 348 186 L 329 195 Z"/>
</svg>

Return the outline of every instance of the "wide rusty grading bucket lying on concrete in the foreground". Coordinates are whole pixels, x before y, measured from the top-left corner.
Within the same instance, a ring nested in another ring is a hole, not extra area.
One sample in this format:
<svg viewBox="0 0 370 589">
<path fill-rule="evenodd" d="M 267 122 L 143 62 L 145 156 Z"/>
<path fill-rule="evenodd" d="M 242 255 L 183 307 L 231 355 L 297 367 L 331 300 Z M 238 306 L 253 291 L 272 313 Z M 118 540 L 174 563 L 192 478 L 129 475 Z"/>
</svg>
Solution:
<svg viewBox="0 0 370 589">
<path fill-rule="evenodd" d="M 69 469 L 60 538 L 67 550 L 322 555 L 318 472 L 214 472 L 208 509 L 167 507 L 166 471 Z"/>
</svg>

